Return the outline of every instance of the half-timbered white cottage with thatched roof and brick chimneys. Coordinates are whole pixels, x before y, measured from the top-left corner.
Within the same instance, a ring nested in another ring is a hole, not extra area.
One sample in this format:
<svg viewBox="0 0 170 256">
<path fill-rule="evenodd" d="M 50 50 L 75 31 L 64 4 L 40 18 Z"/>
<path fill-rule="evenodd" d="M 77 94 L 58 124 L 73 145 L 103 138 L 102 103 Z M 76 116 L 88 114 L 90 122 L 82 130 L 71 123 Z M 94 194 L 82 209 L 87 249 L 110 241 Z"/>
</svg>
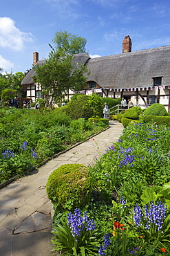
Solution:
<svg viewBox="0 0 170 256">
<path fill-rule="evenodd" d="M 123 53 L 90 58 L 87 53 L 76 55 L 76 62 L 89 68 L 87 85 L 80 93 L 97 93 L 103 97 L 131 98 L 134 104 L 163 104 L 170 109 L 170 46 L 131 52 L 131 38 L 123 40 Z M 43 64 L 33 53 L 33 64 Z M 32 69 L 23 79 L 27 97 L 41 98 L 41 88 L 34 83 Z M 70 92 L 72 95 L 74 92 Z"/>
</svg>

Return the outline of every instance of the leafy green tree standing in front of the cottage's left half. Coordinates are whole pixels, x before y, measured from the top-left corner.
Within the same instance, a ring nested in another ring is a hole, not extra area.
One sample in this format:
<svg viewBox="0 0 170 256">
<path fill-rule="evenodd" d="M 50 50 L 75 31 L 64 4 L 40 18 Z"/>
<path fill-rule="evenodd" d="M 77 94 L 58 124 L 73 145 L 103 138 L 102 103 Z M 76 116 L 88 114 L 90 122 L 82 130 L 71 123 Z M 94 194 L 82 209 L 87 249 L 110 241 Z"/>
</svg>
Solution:
<svg viewBox="0 0 170 256">
<path fill-rule="evenodd" d="M 83 64 L 77 67 L 75 56 L 65 54 L 63 51 L 49 55 L 43 66 L 34 66 L 36 76 L 34 81 L 41 84 L 42 93 L 47 100 L 47 107 L 54 107 L 57 100 L 61 100 L 63 93 L 67 95 L 69 89 L 80 91 L 85 86 L 87 67 Z"/>
</svg>

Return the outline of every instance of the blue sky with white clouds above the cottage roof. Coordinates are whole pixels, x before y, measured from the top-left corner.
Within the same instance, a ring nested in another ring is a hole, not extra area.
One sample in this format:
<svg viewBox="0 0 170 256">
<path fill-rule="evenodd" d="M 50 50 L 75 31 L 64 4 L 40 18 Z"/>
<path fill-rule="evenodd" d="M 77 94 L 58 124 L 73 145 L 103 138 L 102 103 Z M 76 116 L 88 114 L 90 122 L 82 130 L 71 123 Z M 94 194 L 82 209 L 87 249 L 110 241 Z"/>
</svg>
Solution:
<svg viewBox="0 0 170 256">
<path fill-rule="evenodd" d="M 59 30 L 85 37 L 92 57 L 122 53 L 125 35 L 132 51 L 167 46 L 169 17 L 169 0 L 1 0 L 0 67 L 32 68 L 32 53 L 46 58 Z"/>
</svg>

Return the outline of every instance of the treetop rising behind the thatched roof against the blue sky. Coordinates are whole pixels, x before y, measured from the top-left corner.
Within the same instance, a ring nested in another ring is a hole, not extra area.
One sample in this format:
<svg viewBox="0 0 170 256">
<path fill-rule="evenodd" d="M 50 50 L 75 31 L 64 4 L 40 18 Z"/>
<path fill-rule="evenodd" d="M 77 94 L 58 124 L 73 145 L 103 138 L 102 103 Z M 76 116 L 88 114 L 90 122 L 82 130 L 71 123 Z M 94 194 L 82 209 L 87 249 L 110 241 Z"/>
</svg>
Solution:
<svg viewBox="0 0 170 256">
<path fill-rule="evenodd" d="M 60 51 L 63 54 L 85 53 L 85 44 L 87 39 L 78 37 L 77 35 L 67 33 L 67 31 L 60 30 L 55 33 L 53 42 L 55 44 L 53 51 Z"/>
</svg>

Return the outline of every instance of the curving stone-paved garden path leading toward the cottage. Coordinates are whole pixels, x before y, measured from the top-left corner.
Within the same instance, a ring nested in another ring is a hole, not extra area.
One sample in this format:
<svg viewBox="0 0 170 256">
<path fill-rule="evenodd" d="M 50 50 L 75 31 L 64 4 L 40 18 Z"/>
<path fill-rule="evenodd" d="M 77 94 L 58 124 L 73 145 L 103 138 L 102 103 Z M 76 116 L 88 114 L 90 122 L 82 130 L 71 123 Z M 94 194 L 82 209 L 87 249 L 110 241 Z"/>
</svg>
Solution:
<svg viewBox="0 0 170 256">
<path fill-rule="evenodd" d="M 52 203 L 45 192 L 48 176 L 66 163 L 93 165 L 122 132 L 121 123 L 109 121 L 109 129 L 0 190 L 0 256 L 51 254 Z"/>
</svg>

